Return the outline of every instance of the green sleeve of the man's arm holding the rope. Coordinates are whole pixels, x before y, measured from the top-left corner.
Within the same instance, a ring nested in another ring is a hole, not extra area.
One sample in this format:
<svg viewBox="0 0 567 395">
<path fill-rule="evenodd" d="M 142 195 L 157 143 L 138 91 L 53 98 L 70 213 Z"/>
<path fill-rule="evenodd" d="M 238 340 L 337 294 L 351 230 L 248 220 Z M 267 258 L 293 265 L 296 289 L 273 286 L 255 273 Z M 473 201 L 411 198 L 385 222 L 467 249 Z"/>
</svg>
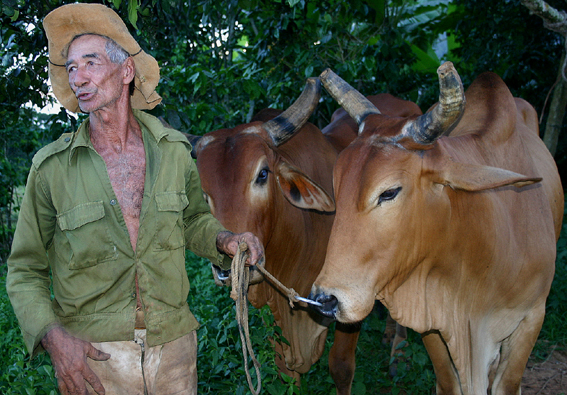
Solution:
<svg viewBox="0 0 567 395">
<path fill-rule="evenodd" d="M 186 180 L 185 191 L 189 200 L 183 216 L 186 247 L 220 268 L 229 269 L 231 259 L 216 247 L 217 235 L 226 229 L 211 214 L 210 207 L 203 198 L 197 166 L 190 157 Z"/>
</svg>

